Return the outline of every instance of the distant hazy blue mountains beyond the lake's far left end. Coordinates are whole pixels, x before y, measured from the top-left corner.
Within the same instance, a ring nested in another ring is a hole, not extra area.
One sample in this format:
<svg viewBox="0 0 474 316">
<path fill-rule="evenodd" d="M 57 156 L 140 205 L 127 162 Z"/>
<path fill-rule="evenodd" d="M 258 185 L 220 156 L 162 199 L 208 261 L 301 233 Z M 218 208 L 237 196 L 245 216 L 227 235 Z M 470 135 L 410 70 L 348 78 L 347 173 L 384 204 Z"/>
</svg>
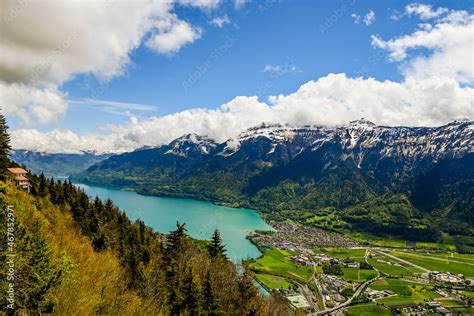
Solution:
<svg viewBox="0 0 474 316">
<path fill-rule="evenodd" d="M 14 150 L 10 153 L 10 158 L 16 163 L 27 166 L 33 173 L 43 172 L 48 177 L 67 177 L 73 173 L 79 173 L 110 156 L 110 154 L 97 155 L 90 152 L 51 154 L 28 150 Z"/>
</svg>

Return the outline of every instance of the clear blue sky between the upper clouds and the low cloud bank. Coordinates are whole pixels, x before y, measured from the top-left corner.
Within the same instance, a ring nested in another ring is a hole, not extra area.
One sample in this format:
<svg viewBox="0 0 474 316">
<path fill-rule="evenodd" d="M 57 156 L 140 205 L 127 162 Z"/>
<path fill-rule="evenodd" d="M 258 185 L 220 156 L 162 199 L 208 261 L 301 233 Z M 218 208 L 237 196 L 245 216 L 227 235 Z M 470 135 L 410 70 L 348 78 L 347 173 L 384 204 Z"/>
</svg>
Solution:
<svg viewBox="0 0 474 316">
<path fill-rule="evenodd" d="M 57 117 L 39 122 L 12 115 L 10 125 L 43 133 L 104 133 L 104 126 L 124 126 L 130 117 L 140 121 L 188 109 L 215 109 L 237 96 L 268 102 L 269 96 L 292 94 L 331 73 L 400 83 L 406 77 L 400 67 L 412 54 L 428 58 L 436 48 L 407 47 L 409 57 L 394 61 L 389 53 L 396 48 L 376 47 L 372 36 L 388 42 L 413 34 L 420 23 L 441 23 L 434 21 L 438 17 L 407 14 L 412 3 L 282 0 L 247 2 L 238 9 L 231 1 L 205 8 L 175 4 L 171 14 L 199 29 L 199 38 L 178 51 L 157 53 L 146 44 L 148 33 L 126 52 L 129 62 L 121 66 L 121 74 L 103 80 L 97 73 L 70 71 L 65 80 L 55 81 L 67 102 L 67 110 Z M 432 11 L 472 13 L 468 1 L 426 4 Z M 374 19 L 365 23 L 370 12 Z M 223 25 L 213 25 L 216 18 L 224 19 Z"/>
</svg>

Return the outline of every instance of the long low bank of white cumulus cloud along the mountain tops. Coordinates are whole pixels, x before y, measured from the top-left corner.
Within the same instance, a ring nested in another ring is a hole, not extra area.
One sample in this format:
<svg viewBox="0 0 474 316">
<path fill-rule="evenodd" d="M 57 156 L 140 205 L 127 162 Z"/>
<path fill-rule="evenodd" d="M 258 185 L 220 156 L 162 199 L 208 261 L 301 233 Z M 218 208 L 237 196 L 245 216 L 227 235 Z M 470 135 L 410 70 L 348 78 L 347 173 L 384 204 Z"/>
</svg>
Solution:
<svg viewBox="0 0 474 316">
<path fill-rule="evenodd" d="M 108 126 L 105 136 L 23 129 L 12 133 L 12 142 L 17 149 L 39 151 L 123 152 L 164 144 L 190 132 L 224 141 L 262 121 L 339 125 L 364 117 L 383 125 L 434 126 L 473 119 L 472 96 L 472 88 L 448 78 L 408 78 L 398 83 L 329 74 L 292 94 L 273 96 L 270 102 L 241 96 L 216 109 L 191 109 L 142 121 L 132 117 L 126 125 Z"/>
</svg>

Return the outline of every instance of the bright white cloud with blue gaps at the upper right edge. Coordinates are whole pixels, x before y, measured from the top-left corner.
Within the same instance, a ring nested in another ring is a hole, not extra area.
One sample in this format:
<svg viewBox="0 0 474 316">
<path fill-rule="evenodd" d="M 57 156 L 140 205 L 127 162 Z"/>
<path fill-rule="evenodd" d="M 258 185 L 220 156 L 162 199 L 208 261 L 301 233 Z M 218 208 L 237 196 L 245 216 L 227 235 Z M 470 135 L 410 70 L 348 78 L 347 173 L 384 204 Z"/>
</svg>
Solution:
<svg viewBox="0 0 474 316">
<path fill-rule="evenodd" d="M 372 36 L 372 45 L 387 50 L 389 58 L 402 62 L 406 77 L 425 79 L 454 78 L 474 83 L 474 15 L 454 11 L 431 27 L 389 40 Z M 426 54 L 428 51 L 428 54 Z M 420 52 L 419 54 L 417 54 Z"/>
</svg>

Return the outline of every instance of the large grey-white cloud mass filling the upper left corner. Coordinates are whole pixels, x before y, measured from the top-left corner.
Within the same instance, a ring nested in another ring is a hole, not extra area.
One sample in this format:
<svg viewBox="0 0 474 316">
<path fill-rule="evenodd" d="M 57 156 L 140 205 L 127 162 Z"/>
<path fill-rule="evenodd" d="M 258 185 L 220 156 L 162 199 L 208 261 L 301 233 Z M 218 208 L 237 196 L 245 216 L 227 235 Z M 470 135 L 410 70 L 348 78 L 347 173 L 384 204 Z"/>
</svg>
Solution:
<svg viewBox="0 0 474 316">
<path fill-rule="evenodd" d="M 5 112 L 25 123 L 54 120 L 67 108 L 59 87 L 74 76 L 91 74 L 108 81 L 124 74 L 130 53 L 145 38 L 148 46 L 164 54 L 197 40 L 201 31 L 172 10 L 171 1 L 161 0 L 1 1 Z"/>
</svg>

